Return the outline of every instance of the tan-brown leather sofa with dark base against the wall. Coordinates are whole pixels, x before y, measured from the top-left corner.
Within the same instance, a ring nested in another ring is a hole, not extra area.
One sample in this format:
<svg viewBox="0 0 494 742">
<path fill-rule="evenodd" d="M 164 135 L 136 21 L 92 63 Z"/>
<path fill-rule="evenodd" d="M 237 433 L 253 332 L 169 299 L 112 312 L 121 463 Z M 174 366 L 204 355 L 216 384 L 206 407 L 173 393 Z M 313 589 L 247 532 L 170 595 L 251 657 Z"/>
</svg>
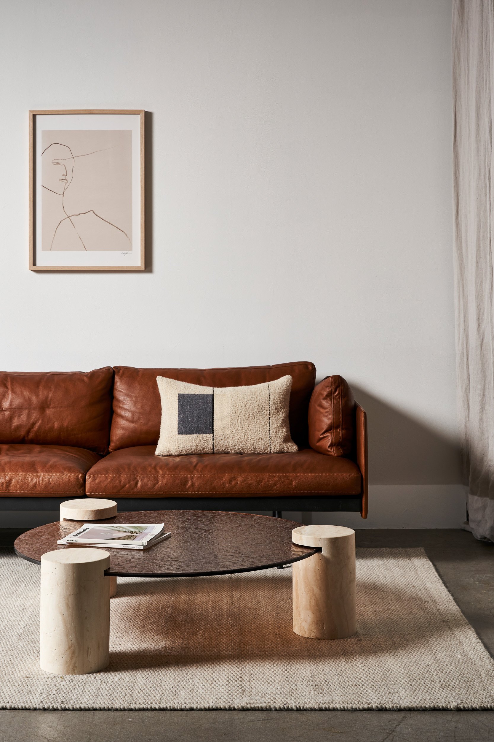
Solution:
<svg viewBox="0 0 494 742">
<path fill-rule="evenodd" d="M 214 387 L 293 378 L 297 453 L 155 456 L 156 376 Z M 231 369 L 0 372 L 0 509 L 108 497 L 122 510 L 358 510 L 367 517 L 367 421 L 339 376 L 308 362 Z"/>
</svg>

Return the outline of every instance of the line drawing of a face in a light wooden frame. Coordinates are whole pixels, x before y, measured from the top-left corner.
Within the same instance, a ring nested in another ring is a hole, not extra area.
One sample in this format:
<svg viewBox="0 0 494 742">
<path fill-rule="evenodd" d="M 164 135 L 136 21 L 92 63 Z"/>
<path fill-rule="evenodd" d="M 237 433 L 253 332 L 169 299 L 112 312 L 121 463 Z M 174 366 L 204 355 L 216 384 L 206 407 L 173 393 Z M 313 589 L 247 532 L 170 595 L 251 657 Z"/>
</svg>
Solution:
<svg viewBox="0 0 494 742">
<path fill-rule="evenodd" d="M 30 111 L 29 179 L 30 270 L 144 270 L 144 111 Z"/>
</svg>

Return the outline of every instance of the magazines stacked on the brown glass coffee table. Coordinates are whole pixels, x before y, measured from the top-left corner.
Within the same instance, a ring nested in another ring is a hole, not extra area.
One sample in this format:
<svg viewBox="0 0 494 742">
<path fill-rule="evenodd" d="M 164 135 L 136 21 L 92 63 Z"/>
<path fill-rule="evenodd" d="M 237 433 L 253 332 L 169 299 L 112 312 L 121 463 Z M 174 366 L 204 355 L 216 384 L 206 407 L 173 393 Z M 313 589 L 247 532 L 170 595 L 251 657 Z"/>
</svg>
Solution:
<svg viewBox="0 0 494 742">
<path fill-rule="evenodd" d="M 105 549 L 148 549 L 170 536 L 171 533 L 164 531 L 164 523 L 84 523 L 77 531 L 57 541 L 57 544 L 104 546 Z"/>
</svg>

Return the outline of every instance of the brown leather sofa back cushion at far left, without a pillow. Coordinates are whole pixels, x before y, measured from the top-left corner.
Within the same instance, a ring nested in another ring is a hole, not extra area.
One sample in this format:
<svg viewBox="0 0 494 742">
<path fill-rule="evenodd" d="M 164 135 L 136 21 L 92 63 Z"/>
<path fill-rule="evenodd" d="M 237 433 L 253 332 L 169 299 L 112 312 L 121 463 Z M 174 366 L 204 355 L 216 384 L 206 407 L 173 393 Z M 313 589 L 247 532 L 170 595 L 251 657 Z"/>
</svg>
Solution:
<svg viewBox="0 0 494 742">
<path fill-rule="evenodd" d="M 48 444 L 107 453 L 113 369 L 0 371 L 0 443 Z"/>
</svg>

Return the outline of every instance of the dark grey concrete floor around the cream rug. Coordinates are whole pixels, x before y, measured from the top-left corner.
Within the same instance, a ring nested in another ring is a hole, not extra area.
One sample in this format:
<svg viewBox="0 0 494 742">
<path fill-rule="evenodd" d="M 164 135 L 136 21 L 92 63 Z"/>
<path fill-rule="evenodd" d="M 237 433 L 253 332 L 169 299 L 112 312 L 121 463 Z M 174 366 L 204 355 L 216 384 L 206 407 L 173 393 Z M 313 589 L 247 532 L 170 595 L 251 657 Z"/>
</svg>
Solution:
<svg viewBox="0 0 494 742">
<path fill-rule="evenodd" d="M 0 532 L 0 545 L 13 533 Z M 464 531 L 358 531 L 358 546 L 423 546 L 494 656 L 494 545 Z M 0 742 L 481 742 L 494 712 L 0 711 Z"/>
</svg>

